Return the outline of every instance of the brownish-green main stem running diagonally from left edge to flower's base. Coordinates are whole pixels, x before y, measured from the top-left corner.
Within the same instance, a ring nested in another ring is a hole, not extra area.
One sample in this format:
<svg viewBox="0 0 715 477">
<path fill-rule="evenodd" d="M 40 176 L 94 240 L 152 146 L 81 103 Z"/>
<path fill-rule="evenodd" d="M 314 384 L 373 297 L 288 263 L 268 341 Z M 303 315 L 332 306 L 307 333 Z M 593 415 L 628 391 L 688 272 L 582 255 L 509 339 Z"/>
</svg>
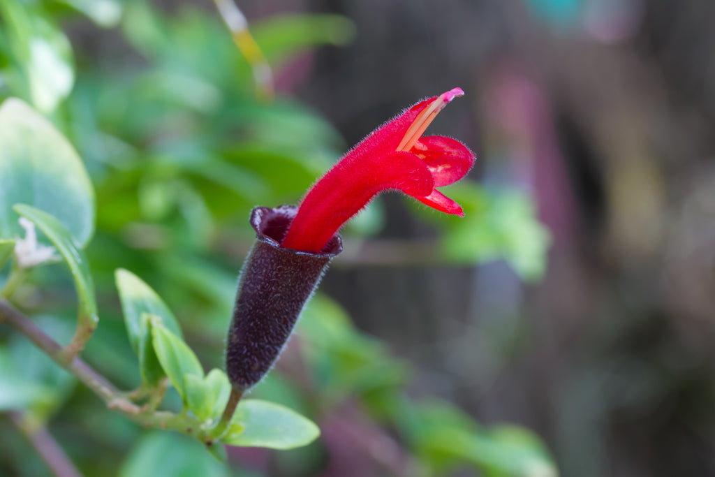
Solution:
<svg viewBox="0 0 715 477">
<path fill-rule="evenodd" d="M 37 348 L 52 358 L 55 363 L 82 381 L 84 385 L 104 400 L 104 403 L 107 404 L 107 408 L 117 410 L 126 415 L 127 418 L 143 426 L 172 429 L 173 431 L 194 436 L 204 442 L 209 440 L 207 431 L 202 428 L 202 423 L 197 418 L 189 415 L 169 413 L 167 411 L 144 411 L 138 405 L 125 398 L 124 394 L 112 383 L 109 383 L 107 378 L 97 373 L 92 366 L 85 363 L 82 359 L 74 358 L 69 362 L 64 360 L 62 347 L 59 343 L 46 335 L 44 331 L 38 328 L 37 325 L 25 315 L 13 308 L 6 300 L 0 300 L 0 323 L 2 322 L 9 324 L 25 335 Z"/>
</svg>

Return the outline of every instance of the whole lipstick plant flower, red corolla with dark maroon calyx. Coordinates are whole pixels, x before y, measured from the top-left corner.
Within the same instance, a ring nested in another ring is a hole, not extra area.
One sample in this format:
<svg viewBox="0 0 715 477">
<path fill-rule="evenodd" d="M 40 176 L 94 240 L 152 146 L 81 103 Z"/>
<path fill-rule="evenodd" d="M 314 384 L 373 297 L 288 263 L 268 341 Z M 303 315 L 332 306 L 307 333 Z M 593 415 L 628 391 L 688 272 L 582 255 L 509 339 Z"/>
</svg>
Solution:
<svg viewBox="0 0 715 477">
<path fill-rule="evenodd" d="M 384 190 L 400 190 L 441 212 L 462 207 L 438 191 L 467 174 L 474 154 L 461 142 L 423 137 L 459 88 L 418 102 L 365 137 L 313 185 L 300 207 L 257 207 L 257 241 L 245 260 L 230 325 L 230 403 L 270 370 L 328 262 L 342 251 L 338 231 Z M 229 412 L 227 406 L 227 412 Z"/>
</svg>

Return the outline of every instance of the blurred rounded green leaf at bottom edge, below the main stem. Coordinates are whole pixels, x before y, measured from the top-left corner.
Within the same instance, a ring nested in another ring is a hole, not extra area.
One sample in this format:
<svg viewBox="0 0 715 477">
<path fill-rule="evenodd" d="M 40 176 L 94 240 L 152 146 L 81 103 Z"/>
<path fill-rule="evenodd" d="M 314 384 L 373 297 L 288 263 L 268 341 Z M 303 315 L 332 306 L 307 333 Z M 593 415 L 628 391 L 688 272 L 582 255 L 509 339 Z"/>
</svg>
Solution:
<svg viewBox="0 0 715 477">
<path fill-rule="evenodd" d="M 119 477 L 156 476 L 228 477 L 230 473 L 195 439 L 155 431 L 136 443 L 119 470 Z"/>
</svg>

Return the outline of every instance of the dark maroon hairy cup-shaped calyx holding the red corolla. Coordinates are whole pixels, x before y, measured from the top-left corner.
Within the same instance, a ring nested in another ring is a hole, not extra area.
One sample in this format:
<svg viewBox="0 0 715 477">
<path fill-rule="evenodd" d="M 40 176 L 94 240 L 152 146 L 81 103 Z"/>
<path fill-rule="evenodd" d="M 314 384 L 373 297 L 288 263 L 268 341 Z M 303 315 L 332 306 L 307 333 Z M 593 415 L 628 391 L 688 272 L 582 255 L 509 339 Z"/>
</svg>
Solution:
<svg viewBox="0 0 715 477">
<path fill-rule="evenodd" d="M 296 207 L 256 207 L 256 242 L 242 268 L 226 348 L 226 372 L 240 390 L 270 370 L 327 264 L 342 251 L 335 234 L 320 253 L 280 247 Z"/>
</svg>

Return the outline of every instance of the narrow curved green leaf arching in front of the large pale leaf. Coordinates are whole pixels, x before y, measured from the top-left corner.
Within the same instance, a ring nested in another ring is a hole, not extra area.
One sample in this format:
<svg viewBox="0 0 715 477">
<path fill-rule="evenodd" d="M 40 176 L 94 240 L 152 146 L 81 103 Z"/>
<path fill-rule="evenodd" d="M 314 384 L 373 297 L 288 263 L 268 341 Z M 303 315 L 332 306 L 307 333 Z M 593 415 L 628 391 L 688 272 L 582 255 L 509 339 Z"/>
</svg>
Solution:
<svg viewBox="0 0 715 477">
<path fill-rule="evenodd" d="M 97 325 L 97 303 L 94 300 L 94 282 L 92 273 L 89 271 L 89 262 L 82 249 L 77 245 L 64 225 L 47 212 L 43 212 L 29 205 L 18 204 L 14 207 L 15 212 L 30 220 L 41 230 L 44 235 L 54 244 L 69 265 L 69 270 L 74 279 L 74 287 L 77 290 L 77 300 L 79 302 L 79 321 L 88 323 L 92 327 Z"/>
</svg>

